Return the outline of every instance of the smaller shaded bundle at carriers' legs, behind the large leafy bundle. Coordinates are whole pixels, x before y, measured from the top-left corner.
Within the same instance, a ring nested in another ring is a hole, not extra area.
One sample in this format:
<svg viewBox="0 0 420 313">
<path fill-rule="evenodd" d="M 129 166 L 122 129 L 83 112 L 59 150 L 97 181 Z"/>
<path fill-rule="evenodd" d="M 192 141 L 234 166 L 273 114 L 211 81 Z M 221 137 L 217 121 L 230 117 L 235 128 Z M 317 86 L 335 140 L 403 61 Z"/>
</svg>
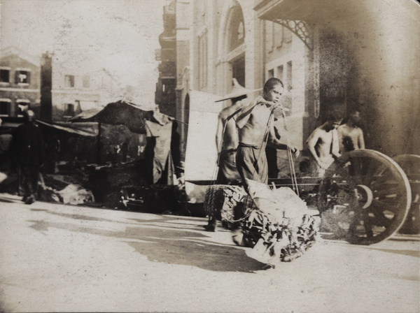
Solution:
<svg viewBox="0 0 420 313">
<path fill-rule="evenodd" d="M 223 226 L 232 227 L 235 219 L 244 215 L 244 188 L 226 184 L 214 184 L 207 188 L 204 210 L 209 218 L 222 221 Z"/>
</svg>

